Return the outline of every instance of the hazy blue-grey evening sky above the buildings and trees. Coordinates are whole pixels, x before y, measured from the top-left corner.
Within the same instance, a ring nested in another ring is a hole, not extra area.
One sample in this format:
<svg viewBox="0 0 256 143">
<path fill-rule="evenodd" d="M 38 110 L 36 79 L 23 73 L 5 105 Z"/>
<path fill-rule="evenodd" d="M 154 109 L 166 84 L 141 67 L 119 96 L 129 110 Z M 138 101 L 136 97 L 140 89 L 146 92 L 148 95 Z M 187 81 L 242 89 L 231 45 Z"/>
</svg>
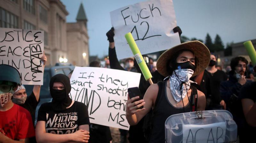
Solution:
<svg viewBox="0 0 256 143">
<path fill-rule="evenodd" d="M 145 0 L 61 0 L 69 12 L 67 22 L 75 22 L 81 2 L 88 18 L 90 55 L 108 55 L 106 32 L 112 27 L 110 11 Z M 173 0 L 177 25 L 182 35 L 223 43 L 256 39 L 255 0 Z"/>
</svg>

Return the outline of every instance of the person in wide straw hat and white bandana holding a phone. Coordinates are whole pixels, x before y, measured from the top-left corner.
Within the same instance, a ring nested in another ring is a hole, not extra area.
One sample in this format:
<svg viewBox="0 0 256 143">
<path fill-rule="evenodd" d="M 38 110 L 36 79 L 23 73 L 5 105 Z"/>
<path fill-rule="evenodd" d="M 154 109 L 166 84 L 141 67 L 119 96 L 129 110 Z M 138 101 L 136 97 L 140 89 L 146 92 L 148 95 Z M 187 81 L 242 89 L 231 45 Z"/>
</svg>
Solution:
<svg viewBox="0 0 256 143">
<path fill-rule="evenodd" d="M 188 41 L 166 50 L 158 58 L 156 67 L 167 78 L 151 85 L 142 100 L 136 101 L 139 96 L 128 99 L 128 123 L 137 124 L 152 108 L 153 124 L 149 142 L 164 143 L 164 123 L 169 116 L 205 109 L 204 94 L 190 85 L 193 81 L 189 79 L 202 72 L 209 62 L 210 52 L 200 41 Z M 192 95 L 195 98 L 191 98 Z M 141 106 L 143 108 L 139 109 Z"/>
</svg>

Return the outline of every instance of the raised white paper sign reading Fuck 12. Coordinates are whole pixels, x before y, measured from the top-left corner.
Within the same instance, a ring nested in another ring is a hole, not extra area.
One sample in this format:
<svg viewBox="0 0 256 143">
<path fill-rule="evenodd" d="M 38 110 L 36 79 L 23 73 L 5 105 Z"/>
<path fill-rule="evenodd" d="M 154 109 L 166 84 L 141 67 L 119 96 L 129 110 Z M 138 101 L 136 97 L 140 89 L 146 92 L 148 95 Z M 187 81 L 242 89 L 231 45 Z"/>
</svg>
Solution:
<svg viewBox="0 0 256 143">
<path fill-rule="evenodd" d="M 141 54 L 169 49 L 180 44 L 172 0 L 151 0 L 128 5 L 110 12 L 115 28 L 115 46 L 118 59 L 131 57 L 124 35 L 132 33 Z"/>
</svg>

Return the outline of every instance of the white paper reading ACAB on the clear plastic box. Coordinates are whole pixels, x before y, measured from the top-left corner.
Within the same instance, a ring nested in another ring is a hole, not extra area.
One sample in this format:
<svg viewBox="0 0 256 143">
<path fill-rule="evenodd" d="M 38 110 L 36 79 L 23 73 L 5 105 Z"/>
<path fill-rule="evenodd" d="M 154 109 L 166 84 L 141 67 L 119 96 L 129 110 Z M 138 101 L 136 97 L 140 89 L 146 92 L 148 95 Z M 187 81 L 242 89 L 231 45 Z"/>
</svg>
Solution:
<svg viewBox="0 0 256 143">
<path fill-rule="evenodd" d="M 206 125 L 183 124 L 183 142 L 225 142 L 226 123 Z"/>
</svg>

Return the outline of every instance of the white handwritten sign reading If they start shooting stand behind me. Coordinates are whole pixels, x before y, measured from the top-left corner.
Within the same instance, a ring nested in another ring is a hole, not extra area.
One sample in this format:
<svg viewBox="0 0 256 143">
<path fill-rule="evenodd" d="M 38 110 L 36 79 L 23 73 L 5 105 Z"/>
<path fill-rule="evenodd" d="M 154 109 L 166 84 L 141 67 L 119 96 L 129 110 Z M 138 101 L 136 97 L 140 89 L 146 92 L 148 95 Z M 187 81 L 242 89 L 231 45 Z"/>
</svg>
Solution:
<svg viewBox="0 0 256 143">
<path fill-rule="evenodd" d="M 127 89 L 138 87 L 139 82 L 140 73 L 76 67 L 70 79 L 70 97 L 87 106 L 91 123 L 129 130 Z"/>
</svg>

